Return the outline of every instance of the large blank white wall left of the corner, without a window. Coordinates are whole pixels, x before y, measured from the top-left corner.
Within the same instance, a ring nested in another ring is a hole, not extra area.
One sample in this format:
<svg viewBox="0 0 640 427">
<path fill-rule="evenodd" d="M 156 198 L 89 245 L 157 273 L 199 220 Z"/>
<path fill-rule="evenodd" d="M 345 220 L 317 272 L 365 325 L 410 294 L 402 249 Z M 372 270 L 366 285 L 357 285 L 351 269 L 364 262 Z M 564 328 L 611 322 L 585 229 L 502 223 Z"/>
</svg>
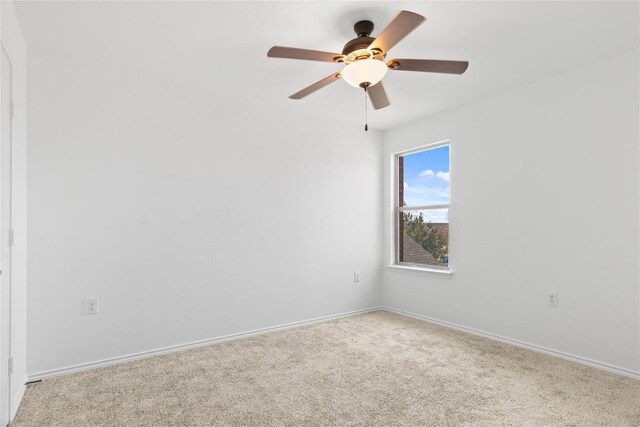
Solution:
<svg viewBox="0 0 640 427">
<path fill-rule="evenodd" d="M 379 132 L 150 69 L 28 71 L 30 374 L 380 303 Z"/>
</svg>

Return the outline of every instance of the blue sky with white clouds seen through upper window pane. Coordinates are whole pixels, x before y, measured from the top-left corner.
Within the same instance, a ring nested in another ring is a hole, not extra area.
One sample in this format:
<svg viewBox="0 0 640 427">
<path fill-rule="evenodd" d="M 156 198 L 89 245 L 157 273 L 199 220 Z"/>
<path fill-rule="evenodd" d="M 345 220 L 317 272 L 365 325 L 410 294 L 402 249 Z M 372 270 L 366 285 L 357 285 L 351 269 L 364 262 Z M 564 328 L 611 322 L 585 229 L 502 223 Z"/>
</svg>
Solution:
<svg viewBox="0 0 640 427">
<path fill-rule="evenodd" d="M 449 203 L 449 146 L 404 156 L 407 206 Z"/>
</svg>

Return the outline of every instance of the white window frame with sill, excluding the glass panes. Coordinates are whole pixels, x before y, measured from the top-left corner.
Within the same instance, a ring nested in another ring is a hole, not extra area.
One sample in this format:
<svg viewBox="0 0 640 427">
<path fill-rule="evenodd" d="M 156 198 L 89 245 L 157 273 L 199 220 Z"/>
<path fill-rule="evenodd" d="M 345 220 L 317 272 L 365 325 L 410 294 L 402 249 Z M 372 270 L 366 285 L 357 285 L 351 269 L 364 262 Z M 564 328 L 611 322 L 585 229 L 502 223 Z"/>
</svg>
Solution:
<svg viewBox="0 0 640 427">
<path fill-rule="evenodd" d="M 451 277 L 451 275 L 453 274 L 453 271 L 451 269 L 451 260 L 449 260 L 447 267 L 400 262 L 400 247 L 398 244 L 400 241 L 400 236 L 399 236 L 400 215 L 402 214 L 402 212 L 416 211 L 416 210 L 447 209 L 448 213 L 450 213 L 451 212 L 451 193 L 452 193 L 451 191 L 452 183 L 451 183 L 451 180 L 449 180 L 449 203 L 437 204 L 437 205 L 399 206 L 400 204 L 399 203 L 400 202 L 399 201 L 400 177 L 398 174 L 399 159 L 400 157 L 403 157 L 409 154 L 420 153 L 422 151 L 429 151 L 429 150 L 433 150 L 433 149 L 444 147 L 444 146 L 449 146 L 449 173 L 451 173 L 451 141 L 448 139 L 422 145 L 420 147 L 412 148 L 410 150 L 398 151 L 392 154 L 392 165 L 393 165 L 393 170 L 392 170 L 393 197 L 391 197 L 391 200 L 393 203 L 393 206 L 392 206 L 393 214 L 391 215 L 391 220 L 393 221 L 391 226 L 391 230 L 393 230 L 392 236 L 391 236 L 392 260 L 391 260 L 391 264 L 388 265 L 388 267 L 392 269 L 406 272 L 406 273 L 427 274 L 427 275 L 439 276 L 439 277 L 445 277 L 445 278 Z M 449 253 L 451 253 L 451 228 L 452 228 L 451 217 L 449 214 L 447 214 L 447 217 L 449 221 L 448 246 L 449 246 Z"/>
</svg>

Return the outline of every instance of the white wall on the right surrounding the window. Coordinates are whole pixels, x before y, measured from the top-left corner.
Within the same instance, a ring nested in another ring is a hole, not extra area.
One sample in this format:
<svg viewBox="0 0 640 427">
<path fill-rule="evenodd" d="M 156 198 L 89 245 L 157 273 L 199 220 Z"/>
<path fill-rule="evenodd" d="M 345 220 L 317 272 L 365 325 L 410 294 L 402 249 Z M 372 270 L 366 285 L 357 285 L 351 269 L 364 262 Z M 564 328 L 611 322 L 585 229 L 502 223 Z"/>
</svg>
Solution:
<svg viewBox="0 0 640 427">
<path fill-rule="evenodd" d="M 385 268 L 384 303 L 638 373 L 639 71 L 631 52 L 385 132 L 387 183 L 391 153 L 451 140 L 454 273 Z"/>
</svg>

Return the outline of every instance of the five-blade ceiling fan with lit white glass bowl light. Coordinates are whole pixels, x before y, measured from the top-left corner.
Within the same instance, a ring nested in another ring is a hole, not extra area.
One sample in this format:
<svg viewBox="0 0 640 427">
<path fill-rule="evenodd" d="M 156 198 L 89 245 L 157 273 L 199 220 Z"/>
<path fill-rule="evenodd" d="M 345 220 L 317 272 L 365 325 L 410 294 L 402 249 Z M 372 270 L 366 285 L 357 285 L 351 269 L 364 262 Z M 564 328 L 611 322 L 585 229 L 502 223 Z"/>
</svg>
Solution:
<svg viewBox="0 0 640 427">
<path fill-rule="evenodd" d="M 394 58 L 385 62 L 389 50 L 418 28 L 425 20 L 426 18 L 422 15 L 403 10 L 375 38 L 371 37 L 373 22 L 356 22 L 353 30 L 358 37 L 348 41 L 344 45 L 341 54 L 273 46 L 267 52 L 267 56 L 270 58 L 303 59 L 346 64 L 342 71 L 333 73 L 294 93 L 289 96 L 291 99 L 302 99 L 335 81 L 343 79 L 351 86 L 363 88 L 369 95 L 373 108 L 378 110 L 389 106 L 389 99 L 381 82 L 388 70 L 462 74 L 469 66 L 466 61 L 440 61 L 433 59 Z"/>
</svg>

